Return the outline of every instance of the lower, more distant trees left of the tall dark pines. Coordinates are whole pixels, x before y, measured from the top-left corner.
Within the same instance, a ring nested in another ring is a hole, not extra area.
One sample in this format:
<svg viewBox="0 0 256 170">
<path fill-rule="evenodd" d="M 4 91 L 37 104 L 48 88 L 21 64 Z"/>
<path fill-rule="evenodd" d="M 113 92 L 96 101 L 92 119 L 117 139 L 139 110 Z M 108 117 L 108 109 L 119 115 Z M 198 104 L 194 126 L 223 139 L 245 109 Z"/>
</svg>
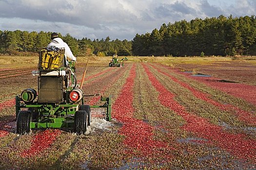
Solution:
<svg viewBox="0 0 256 170">
<path fill-rule="evenodd" d="M 52 32 L 28 32 L 28 31 L 0 31 L 0 53 L 38 52 L 47 47 L 51 42 Z M 76 39 L 70 34 L 59 37 L 66 42 L 74 55 L 98 55 L 109 56 L 117 53 L 118 55 L 132 55 L 132 41 L 112 40 L 107 36 L 105 39 Z"/>
</svg>

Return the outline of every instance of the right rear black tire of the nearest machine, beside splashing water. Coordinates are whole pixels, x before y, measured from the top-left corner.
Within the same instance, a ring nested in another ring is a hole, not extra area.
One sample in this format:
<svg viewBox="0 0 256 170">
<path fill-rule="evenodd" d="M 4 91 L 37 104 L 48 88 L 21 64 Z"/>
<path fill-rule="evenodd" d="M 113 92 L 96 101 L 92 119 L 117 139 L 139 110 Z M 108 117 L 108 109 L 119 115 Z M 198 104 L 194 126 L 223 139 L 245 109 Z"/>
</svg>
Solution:
<svg viewBox="0 0 256 170">
<path fill-rule="evenodd" d="M 76 111 L 75 118 L 74 118 L 74 132 L 76 132 L 77 135 L 85 134 L 86 128 L 87 128 L 86 119 L 87 119 L 86 111 L 84 110 Z"/>
</svg>

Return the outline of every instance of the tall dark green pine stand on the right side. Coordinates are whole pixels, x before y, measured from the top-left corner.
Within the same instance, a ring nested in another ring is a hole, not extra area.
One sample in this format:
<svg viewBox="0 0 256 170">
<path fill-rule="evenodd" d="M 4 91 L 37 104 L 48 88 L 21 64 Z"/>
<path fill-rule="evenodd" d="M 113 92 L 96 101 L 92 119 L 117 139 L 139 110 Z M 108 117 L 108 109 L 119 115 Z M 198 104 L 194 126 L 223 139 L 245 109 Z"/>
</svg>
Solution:
<svg viewBox="0 0 256 170">
<path fill-rule="evenodd" d="M 256 55 L 256 17 L 196 18 L 136 34 L 138 56 Z"/>
</svg>

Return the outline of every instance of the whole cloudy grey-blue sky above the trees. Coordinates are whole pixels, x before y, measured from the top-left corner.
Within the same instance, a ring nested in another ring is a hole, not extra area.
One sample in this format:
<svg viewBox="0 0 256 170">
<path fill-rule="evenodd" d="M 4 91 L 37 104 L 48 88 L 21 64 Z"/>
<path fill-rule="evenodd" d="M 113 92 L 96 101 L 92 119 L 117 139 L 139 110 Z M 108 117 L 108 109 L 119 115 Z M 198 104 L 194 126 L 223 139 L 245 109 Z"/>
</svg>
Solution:
<svg viewBox="0 0 256 170">
<path fill-rule="evenodd" d="M 256 0 L 0 0 L 0 30 L 132 40 L 163 23 L 256 15 Z"/>
</svg>

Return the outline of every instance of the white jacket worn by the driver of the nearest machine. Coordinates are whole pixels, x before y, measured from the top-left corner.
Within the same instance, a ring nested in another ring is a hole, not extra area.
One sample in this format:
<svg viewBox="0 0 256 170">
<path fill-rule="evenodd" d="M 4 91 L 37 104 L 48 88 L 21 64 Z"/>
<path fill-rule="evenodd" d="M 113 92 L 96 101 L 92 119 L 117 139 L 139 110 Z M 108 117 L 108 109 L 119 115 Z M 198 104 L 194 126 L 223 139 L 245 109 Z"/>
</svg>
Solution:
<svg viewBox="0 0 256 170">
<path fill-rule="evenodd" d="M 77 61 L 77 58 L 73 55 L 67 43 L 65 43 L 61 38 L 54 38 L 50 44 L 48 44 L 47 48 L 50 48 L 51 46 L 55 46 L 57 48 L 65 48 L 65 57 L 69 58 L 70 60 Z"/>
</svg>

